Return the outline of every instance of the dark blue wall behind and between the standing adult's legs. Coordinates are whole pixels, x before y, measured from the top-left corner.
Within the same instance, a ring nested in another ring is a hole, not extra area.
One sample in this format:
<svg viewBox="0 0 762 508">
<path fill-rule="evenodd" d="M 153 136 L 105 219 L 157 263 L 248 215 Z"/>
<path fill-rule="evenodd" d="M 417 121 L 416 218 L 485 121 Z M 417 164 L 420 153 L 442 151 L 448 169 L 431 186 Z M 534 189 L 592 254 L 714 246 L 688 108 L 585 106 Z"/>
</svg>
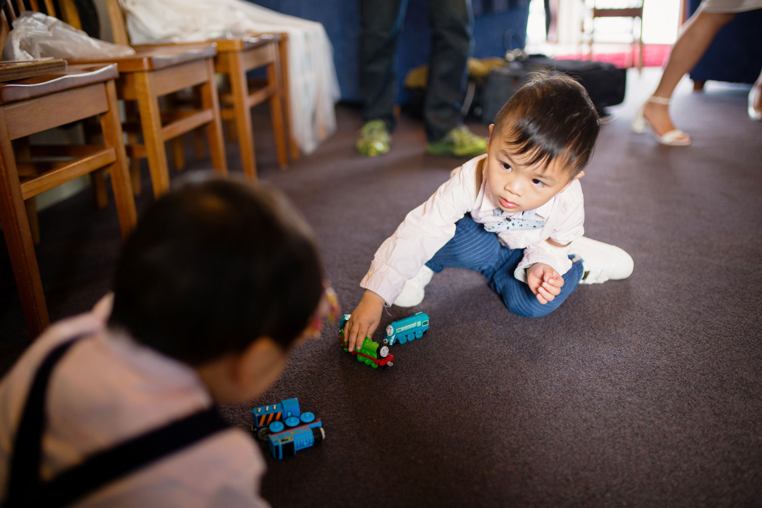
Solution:
<svg viewBox="0 0 762 508">
<path fill-rule="evenodd" d="M 357 0 L 257 0 L 254 3 L 299 18 L 320 21 L 334 46 L 334 62 L 341 85 L 341 99 L 360 101 L 357 78 L 360 7 Z M 505 53 L 503 41 L 507 30 L 517 34 L 519 40 L 526 40 L 529 2 L 515 4 L 517 6 L 508 11 L 475 18 L 474 56 L 502 56 Z M 431 49 L 426 0 L 410 0 L 405 27 L 400 37 L 397 65 L 399 98 L 401 102 L 405 102 L 407 95 L 402 90 L 402 80 L 409 69 L 428 61 Z"/>
</svg>

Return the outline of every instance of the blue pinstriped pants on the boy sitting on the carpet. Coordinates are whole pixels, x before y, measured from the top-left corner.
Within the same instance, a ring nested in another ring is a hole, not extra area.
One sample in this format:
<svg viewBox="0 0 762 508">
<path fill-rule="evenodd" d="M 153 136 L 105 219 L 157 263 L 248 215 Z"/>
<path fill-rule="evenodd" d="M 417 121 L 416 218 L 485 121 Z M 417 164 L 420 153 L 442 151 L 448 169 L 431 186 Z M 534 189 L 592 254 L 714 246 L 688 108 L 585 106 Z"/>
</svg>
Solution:
<svg viewBox="0 0 762 508">
<path fill-rule="evenodd" d="M 485 231 L 482 224 L 466 215 L 456 223 L 455 236 L 434 254 L 426 266 L 437 273 L 447 267 L 482 273 L 509 311 L 525 318 L 548 315 L 577 287 L 582 277 L 582 262 L 576 261 L 571 265 L 563 276 L 561 294 L 543 305 L 537 301 L 527 283 L 514 277 L 514 270 L 522 257 L 523 249 L 504 247 L 498 235 Z"/>
</svg>

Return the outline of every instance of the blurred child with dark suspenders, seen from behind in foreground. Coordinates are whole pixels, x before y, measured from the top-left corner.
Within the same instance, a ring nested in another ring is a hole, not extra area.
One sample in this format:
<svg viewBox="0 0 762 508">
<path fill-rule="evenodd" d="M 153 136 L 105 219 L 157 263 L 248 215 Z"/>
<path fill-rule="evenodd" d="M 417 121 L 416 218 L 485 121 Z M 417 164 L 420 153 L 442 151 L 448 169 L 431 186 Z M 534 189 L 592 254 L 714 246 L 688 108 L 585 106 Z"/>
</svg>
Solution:
<svg viewBox="0 0 762 508">
<path fill-rule="evenodd" d="M 215 179 L 163 196 L 124 245 L 113 311 L 53 324 L 0 384 L 3 506 L 267 506 L 258 445 L 214 404 L 260 395 L 327 302 L 280 193 Z"/>
</svg>

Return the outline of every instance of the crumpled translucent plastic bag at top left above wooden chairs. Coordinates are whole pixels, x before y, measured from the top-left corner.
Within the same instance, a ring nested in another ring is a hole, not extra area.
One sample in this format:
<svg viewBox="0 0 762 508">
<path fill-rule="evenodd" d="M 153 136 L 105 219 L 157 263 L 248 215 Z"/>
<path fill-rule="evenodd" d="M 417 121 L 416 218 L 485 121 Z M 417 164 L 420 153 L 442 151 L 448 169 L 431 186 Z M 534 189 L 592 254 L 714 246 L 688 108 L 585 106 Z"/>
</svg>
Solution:
<svg viewBox="0 0 762 508">
<path fill-rule="evenodd" d="M 88 60 L 134 54 L 135 50 L 130 46 L 94 39 L 59 19 L 32 11 L 24 11 L 14 20 L 2 52 L 6 60 L 43 56 Z"/>
</svg>

